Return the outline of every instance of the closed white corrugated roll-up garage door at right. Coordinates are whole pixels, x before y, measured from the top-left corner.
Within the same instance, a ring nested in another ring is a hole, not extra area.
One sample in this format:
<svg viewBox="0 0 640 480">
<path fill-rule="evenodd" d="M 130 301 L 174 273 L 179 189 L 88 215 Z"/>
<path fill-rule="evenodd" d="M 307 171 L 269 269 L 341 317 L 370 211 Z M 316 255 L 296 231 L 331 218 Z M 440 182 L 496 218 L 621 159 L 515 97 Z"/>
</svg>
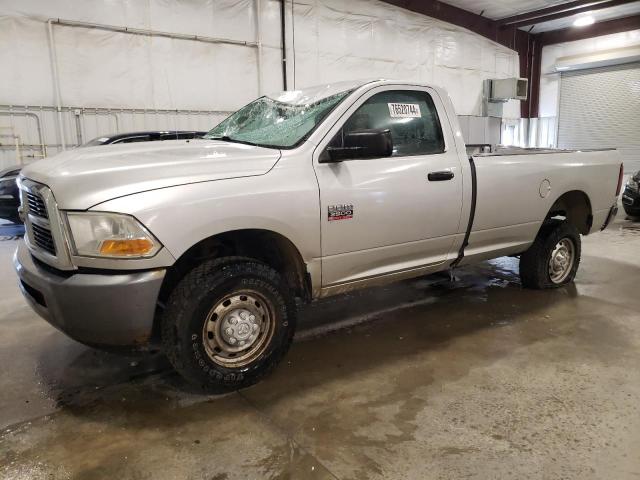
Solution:
<svg viewBox="0 0 640 480">
<path fill-rule="evenodd" d="M 618 148 L 640 170 L 640 63 L 562 73 L 558 147 Z"/>
</svg>

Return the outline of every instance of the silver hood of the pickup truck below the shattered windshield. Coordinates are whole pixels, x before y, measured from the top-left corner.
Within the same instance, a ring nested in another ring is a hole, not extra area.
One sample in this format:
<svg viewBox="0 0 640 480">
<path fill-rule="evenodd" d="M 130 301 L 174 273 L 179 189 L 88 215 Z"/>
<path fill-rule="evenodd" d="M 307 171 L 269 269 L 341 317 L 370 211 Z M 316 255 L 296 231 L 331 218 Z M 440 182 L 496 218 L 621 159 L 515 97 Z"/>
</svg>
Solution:
<svg viewBox="0 0 640 480">
<path fill-rule="evenodd" d="M 60 208 L 187 183 L 267 173 L 280 151 L 217 140 L 166 140 L 76 148 L 32 163 L 22 176 L 53 191 Z"/>
</svg>

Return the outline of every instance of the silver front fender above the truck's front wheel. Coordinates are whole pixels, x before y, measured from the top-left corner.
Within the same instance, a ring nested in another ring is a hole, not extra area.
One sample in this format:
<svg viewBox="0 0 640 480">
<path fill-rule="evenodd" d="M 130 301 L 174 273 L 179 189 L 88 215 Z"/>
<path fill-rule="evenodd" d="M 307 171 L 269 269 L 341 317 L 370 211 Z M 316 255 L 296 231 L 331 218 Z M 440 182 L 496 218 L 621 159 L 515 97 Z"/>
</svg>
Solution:
<svg viewBox="0 0 640 480">
<path fill-rule="evenodd" d="M 291 180 L 273 172 L 180 185 L 117 198 L 92 210 L 135 216 L 174 258 L 220 233 L 262 229 L 289 239 L 303 260 L 310 262 L 320 257 L 317 184 Z"/>
</svg>

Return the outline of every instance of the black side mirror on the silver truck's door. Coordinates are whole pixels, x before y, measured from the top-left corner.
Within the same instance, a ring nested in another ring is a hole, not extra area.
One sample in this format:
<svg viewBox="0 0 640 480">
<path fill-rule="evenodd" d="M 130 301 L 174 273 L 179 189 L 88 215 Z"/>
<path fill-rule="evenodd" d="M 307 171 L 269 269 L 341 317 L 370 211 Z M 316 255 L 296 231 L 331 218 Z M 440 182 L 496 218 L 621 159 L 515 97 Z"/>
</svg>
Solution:
<svg viewBox="0 0 640 480">
<path fill-rule="evenodd" d="M 381 128 L 356 130 L 344 136 L 344 146 L 327 147 L 322 163 L 341 162 L 348 159 L 390 157 L 393 153 L 391 131 Z"/>
</svg>

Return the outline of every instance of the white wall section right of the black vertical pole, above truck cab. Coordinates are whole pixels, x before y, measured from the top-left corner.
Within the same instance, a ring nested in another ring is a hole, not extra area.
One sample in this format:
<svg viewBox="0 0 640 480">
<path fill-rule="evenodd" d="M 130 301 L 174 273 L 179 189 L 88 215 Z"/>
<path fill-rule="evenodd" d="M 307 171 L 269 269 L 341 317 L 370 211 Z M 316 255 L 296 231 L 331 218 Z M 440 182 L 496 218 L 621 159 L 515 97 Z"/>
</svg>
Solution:
<svg viewBox="0 0 640 480">
<path fill-rule="evenodd" d="M 480 115 L 482 81 L 519 75 L 513 50 L 383 2 L 309 0 L 293 12 L 298 88 L 338 79 L 415 80 L 446 87 L 459 115 Z M 519 102 L 505 115 L 519 117 Z"/>
</svg>

